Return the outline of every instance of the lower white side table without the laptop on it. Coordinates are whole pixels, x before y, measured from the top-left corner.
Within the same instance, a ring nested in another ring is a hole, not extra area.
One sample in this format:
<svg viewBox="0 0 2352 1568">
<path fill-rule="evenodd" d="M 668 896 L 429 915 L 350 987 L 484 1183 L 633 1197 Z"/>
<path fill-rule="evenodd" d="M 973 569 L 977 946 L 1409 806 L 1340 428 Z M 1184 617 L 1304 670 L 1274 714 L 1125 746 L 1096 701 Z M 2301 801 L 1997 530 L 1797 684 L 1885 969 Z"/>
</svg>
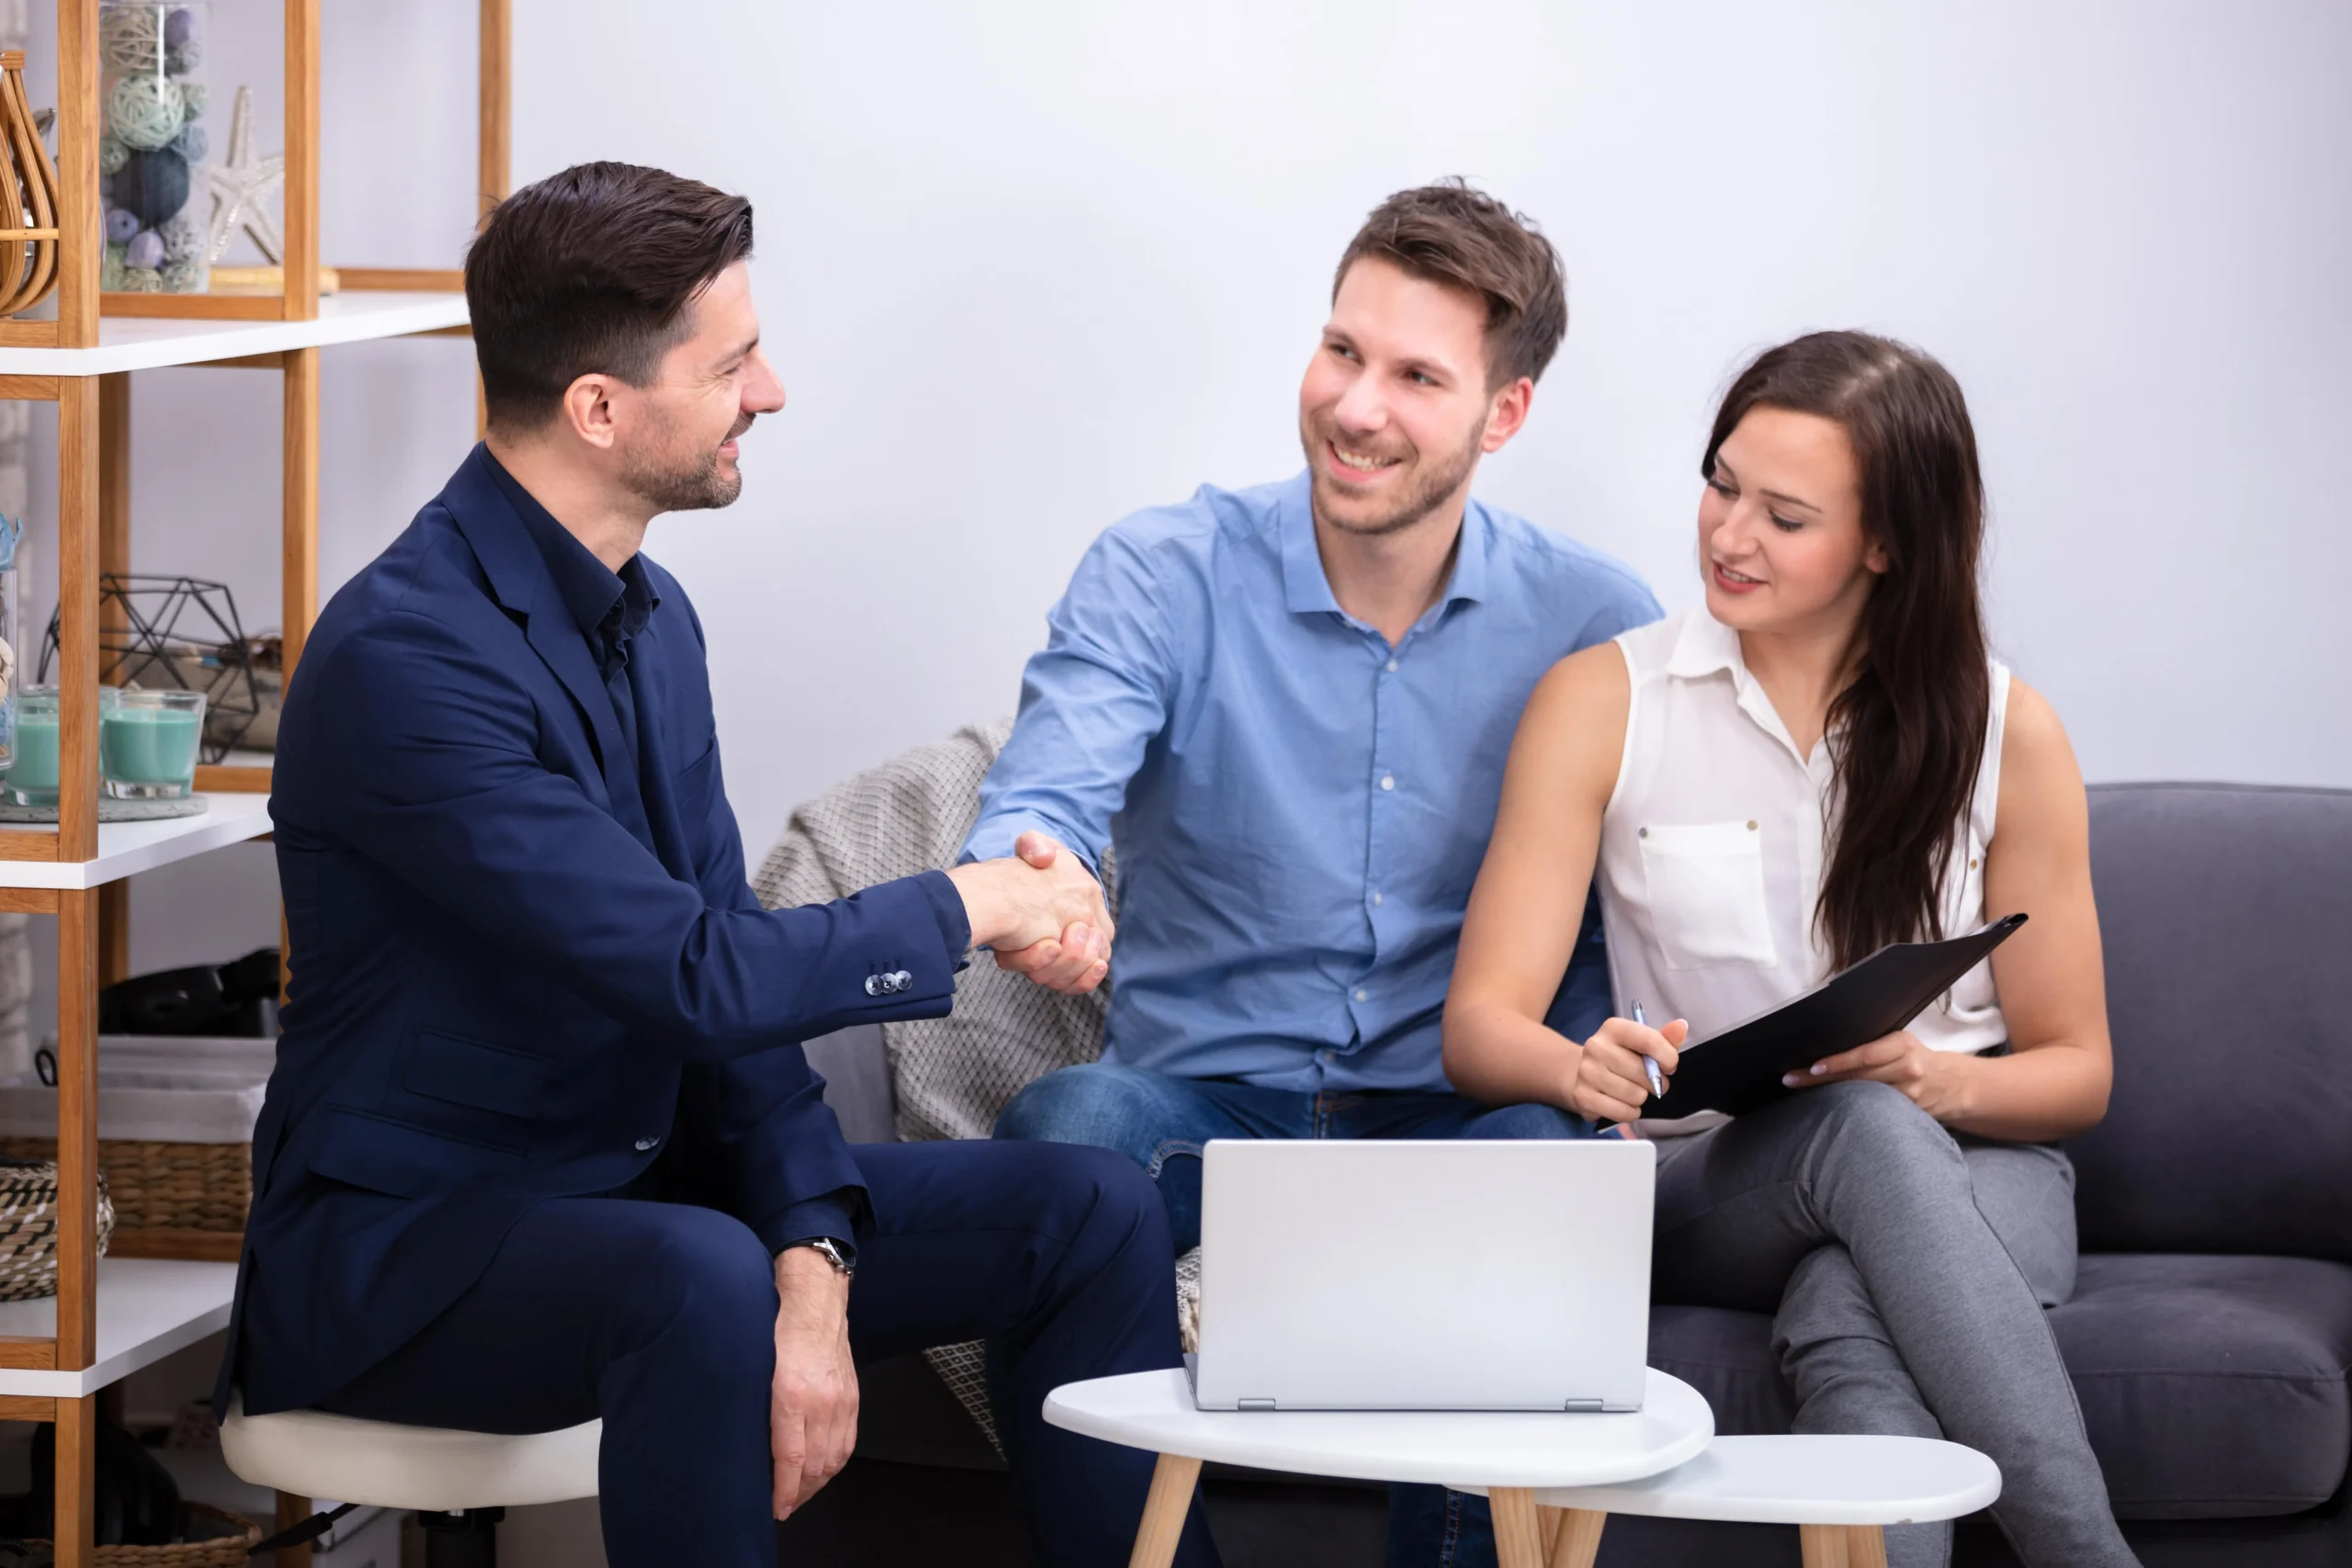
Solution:
<svg viewBox="0 0 2352 1568">
<path fill-rule="evenodd" d="M 1609 1514 L 1792 1523 L 1804 1568 L 1886 1568 L 1884 1526 L 1959 1519 L 1999 1495 L 1999 1467 L 1959 1443 L 1719 1436 L 1675 1469 L 1613 1486 L 1543 1488 L 1536 1505 L 1550 1568 L 1592 1568 Z"/>
</svg>

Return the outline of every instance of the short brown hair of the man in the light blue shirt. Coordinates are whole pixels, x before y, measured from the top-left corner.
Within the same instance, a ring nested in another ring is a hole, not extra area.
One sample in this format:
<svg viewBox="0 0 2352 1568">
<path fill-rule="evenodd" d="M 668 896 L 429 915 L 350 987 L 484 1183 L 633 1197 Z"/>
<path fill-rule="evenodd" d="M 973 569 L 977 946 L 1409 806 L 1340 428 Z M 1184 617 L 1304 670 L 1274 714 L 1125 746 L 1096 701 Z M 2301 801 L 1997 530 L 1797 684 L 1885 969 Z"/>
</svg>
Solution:
<svg viewBox="0 0 2352 1568">
<path fill-rule="evenodd" d="M 1519 376 L 1541 381 L 1569 334 L 1559 252 L 1531 216 L 1472 190 L 1461 176 L 1399 190 L 1374 207 L 1338 259 L 1331 299 L 1348 268 L 1364 259 L 1486 301 L 1486 386 Z"/>
</svg>

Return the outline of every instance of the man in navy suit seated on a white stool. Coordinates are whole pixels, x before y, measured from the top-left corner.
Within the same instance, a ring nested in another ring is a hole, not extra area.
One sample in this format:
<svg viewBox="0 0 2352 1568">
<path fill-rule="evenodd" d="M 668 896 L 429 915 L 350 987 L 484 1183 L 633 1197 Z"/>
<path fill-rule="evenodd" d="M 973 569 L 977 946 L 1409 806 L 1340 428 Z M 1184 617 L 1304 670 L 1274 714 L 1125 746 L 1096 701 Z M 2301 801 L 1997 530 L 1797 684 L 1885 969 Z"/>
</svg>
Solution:
<svg viewBox="0 0 2352 1568">
<path fill-rule="evenodd" d="M 764 1566 L 849 1458 L 854 1363 L 988 1338 L 1040 1561 L 1122 1561 L 1150 1458 L 1040 1406 L 1178 1361 L 1150 1182 L 1082 1147 L 849 1147 L 800 1051 L 946 1013 L 976 945 L 1096 985 L 1094 882 L 1030 842 L 762 910 L 701 623 L 640 555 L 736 498 L 783 407 L 748 252 L 741 197 L 583 165 L 466 259 L 489 440 L 287 693 L 292 985 L 221 1401 L 600 1415 L 616 1568 Z M 1183 1561 L 1214 1563 L 1197 1509 Z"/>
</svg>

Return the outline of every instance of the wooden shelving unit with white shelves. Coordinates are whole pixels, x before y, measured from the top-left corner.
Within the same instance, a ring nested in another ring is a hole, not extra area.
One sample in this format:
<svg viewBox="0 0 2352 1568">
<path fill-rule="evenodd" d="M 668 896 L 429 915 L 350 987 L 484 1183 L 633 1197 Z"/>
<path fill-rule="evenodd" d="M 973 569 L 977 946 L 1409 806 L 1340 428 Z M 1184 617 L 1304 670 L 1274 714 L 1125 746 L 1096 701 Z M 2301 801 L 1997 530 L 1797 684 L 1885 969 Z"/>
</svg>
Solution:
<svg viewBox="0 0 2352 1568">
<path fill-rule="evenodd" d="M 482 38 L 480 209 L 508 190 L 508 0 L 477 0 Z M 226 21 L 226 16 L 221 19 Z M 99 1392 L 228 1326 L 230 1248 L 174 1258 L 96 1253 L 96 999 L 129 969 L 129 877 L 270 830 L 268 766 L 207 766 L 209 811 L 99 825 L 99 578 L 129 571 L 132 374 L 172 364 L 275 369 L 282 397 L 285 668 L 318 616 L 320 350 L 466 331 L 456 270 L 339 268 L 320 299 L 320 0 L 285 0 L 285 292 L 101 294 L 99 0 L 56 0 L 56 320 L 0 320 L 0 397 L 56 404 L 59 783 L 56 827 L 0 830 L 0 910 L 54 914 L 59 1244 L 52 1300 L 0 1305 L 0 1420 L 56 1425 L 56 1563 L 89 1568 Z M 480 409 L 480 404 L 477 404 Z M 174 1232 L 176 1234 L 176 1232 Z M 191 1232 L 193 1234 L 193 1232 Z M 308 1500 L 280 1497 L 282 1521 Z M 310 1549 L 278 1554 L 308 1566 Z"/>
</svg>

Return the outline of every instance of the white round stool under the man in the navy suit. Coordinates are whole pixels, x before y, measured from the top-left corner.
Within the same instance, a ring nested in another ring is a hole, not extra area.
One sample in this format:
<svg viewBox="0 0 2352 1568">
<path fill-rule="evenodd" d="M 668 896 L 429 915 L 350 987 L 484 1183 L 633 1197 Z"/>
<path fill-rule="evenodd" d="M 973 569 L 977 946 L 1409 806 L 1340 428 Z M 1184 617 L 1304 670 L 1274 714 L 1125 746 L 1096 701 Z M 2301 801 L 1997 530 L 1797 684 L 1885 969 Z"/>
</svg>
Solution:
<svg viewBox="0 0 2352 1568">
<path fill-rule="evenodd" d="M 416 1509 L 426 1523 L 428 1568 L 496 1563 L 496 1526 L 510 1507 L 595 1497 L 602 1441 L 600 1420 L 501 1436 L 327 1410 L 247 1415 L 242 1396 L 230 1396 L 221 1422 L 228 1469 L 254 1486 L 282 1497 L 334 1497 L 346 1507 Z M 310 1523 L 325 1528 L 327 1519 L 318 1514 Z"/>
</svg>

